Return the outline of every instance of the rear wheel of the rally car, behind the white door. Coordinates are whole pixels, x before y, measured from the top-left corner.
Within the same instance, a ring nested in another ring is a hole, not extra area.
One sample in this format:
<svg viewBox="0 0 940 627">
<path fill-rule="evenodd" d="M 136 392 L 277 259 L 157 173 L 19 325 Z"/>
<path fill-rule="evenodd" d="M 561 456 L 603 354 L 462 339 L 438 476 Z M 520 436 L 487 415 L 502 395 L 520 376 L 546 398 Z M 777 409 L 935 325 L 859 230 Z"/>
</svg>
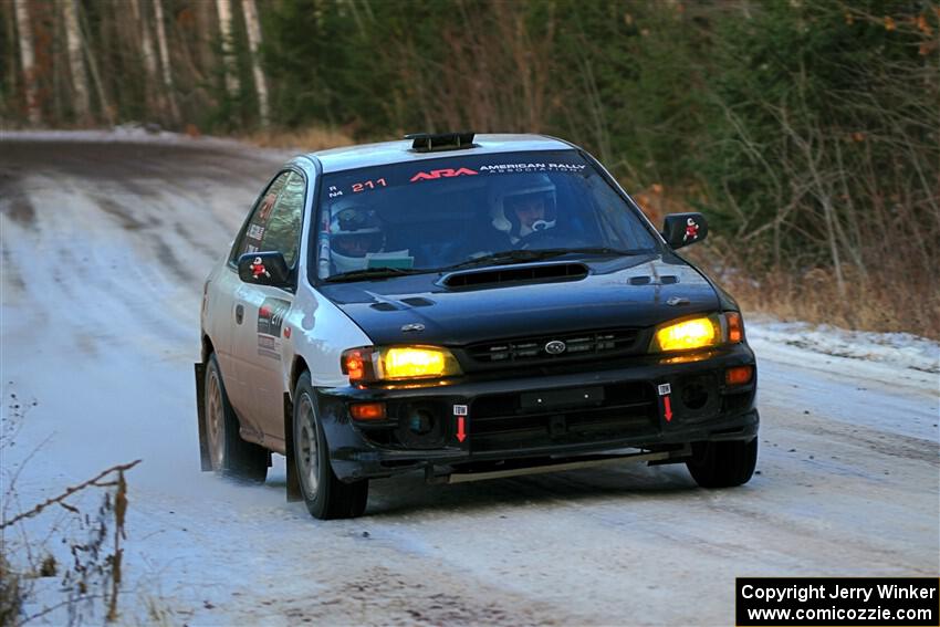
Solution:
<svg viewBox="0 0 940 627">
<path fill-rule="evenodd" d="M 268 449 L 247 442 L 239 435 L 239 421 L 226 394 L 216 354 L 206 364 L 206 440 L 212 470 L 240 481 L 263 483 L 268 477 Z"/>
</svg>

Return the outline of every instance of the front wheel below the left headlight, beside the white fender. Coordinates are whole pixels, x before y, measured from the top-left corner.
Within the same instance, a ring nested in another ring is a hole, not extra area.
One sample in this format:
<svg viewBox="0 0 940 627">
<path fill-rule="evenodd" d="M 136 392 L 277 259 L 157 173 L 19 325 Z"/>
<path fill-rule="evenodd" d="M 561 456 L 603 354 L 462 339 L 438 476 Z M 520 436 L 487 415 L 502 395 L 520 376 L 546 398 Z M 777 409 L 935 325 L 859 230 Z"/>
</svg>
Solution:
<svg viewBox="0 0 940 627">
<path fill-rule="evenodd" d="M 310 373 L 301 375 L 294 391 L 294 463 L 306 509 L 320 520 L 363 515 L 368 500 L 368 479 L 344 483 L 330 463 L 330 449 L 316 415 L 316 396 Z"/>
</svg>

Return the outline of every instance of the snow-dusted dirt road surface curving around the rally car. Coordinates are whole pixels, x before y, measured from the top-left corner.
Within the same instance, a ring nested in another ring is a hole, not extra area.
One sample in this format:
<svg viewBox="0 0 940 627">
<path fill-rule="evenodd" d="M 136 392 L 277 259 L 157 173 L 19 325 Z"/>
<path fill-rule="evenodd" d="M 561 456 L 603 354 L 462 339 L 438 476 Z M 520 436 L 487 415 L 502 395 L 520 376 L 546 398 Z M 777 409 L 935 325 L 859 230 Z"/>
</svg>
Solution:
<svg viewBox="0 0 940 627">
<path fill-rule="evenodd" d="M 38 401 L 3 451 L 7 506 L 143 459 L 125 623 L 732 625 L 735 576 L 938 574 L 938 376 L 760 339 L 759 474 L 740 489 L 679 466 L 406 477 L 374 482 L 364 518 L 320 522 L 285 501 L 279 456 L 261 487 L 200 473 L 202 279 L 281 160 L 0 140 L 4 417 L 10 394 Z"/>
</svg>

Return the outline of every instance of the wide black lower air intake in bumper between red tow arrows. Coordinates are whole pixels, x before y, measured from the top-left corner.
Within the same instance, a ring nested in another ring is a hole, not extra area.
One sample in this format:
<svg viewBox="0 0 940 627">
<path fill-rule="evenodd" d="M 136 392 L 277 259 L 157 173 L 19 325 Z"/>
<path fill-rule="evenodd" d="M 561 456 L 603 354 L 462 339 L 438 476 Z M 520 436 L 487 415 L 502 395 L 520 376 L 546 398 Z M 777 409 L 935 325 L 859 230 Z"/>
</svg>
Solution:
<svg viewBox="0 0 940 627">
<path fill-rule="evenodd" d="M 593 389 L 599 388 L 583 391 Z M 546 396 L 552 393 L 557 390 L 545 391 Z M 472 451 L 610 441 L 654 435 L 659 425 L 656 396 L 645 383 L 604 386 L 600 400 L 582 406 L 534 407 L 524 401 L 523 396 L 530 395 L 497 394 L 476 399 L 470 407 Z"/>
</svg>

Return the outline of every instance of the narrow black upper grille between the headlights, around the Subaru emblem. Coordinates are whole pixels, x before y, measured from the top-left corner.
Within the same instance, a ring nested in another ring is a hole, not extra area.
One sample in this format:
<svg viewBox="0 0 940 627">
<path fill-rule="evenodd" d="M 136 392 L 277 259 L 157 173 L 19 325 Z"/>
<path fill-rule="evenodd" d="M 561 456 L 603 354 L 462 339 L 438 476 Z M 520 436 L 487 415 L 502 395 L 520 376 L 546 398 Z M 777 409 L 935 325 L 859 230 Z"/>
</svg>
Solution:
<svg viewBox="0 0 940 627">
<path fill-rule="evenodd" d="M 619 328 L 487 342 L 469 346 L 467 354 L 481 364 L 528 363 L 536 359 L 554 362 L 598 354 L 615 355 L 629 352 L 638 333 L 636 328 Z M 547 346 L 553 342 L 563 342 L 564 351 L 550 353 Z"/>
</svg>

